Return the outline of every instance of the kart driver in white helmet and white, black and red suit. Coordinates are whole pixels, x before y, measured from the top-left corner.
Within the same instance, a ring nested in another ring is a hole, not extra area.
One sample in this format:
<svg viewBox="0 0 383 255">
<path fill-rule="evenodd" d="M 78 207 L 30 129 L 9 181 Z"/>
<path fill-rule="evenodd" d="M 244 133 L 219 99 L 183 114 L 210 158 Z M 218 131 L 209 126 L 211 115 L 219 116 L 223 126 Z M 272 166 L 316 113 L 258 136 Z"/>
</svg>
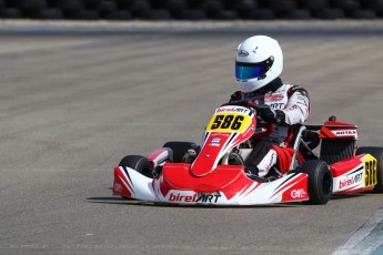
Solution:
<svg viewBox="0 0 383 255">
<path fill-rule="evenodd" d="M 274 174 L 276 151 L 280 151 L 275 149 L 285 147 L 293 125 L 302 124 L 310 114 L 308 92 L 298 85 L 283 83 L 280 79 L 282 70 L 283 53 L 276 40 L 255 35 L 238 47 L 235 78 L 240 91 L 231 95 L 230 102 L 251 101 L 264 106 L 258 111 L 258 122 L 272 126 L 270 134 L 252 141 L 253 151 L 244 162 L 250 175 L 264 177 Z"/>
</svg>

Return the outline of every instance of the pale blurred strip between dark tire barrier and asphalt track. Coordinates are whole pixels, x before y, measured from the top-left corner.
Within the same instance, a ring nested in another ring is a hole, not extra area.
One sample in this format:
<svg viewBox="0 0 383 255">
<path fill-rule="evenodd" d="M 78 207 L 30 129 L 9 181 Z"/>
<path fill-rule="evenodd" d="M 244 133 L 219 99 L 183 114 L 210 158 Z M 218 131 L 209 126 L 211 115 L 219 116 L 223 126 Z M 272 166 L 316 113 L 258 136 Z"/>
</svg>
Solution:
<svg viewBox="0 0 383 255">
<path fill-rule="evenodd" d="M 383 21 L 37 21 L 0 20 L 1 33 L 130 32 L 336 32 L 381 33 Z"/>
</svg>

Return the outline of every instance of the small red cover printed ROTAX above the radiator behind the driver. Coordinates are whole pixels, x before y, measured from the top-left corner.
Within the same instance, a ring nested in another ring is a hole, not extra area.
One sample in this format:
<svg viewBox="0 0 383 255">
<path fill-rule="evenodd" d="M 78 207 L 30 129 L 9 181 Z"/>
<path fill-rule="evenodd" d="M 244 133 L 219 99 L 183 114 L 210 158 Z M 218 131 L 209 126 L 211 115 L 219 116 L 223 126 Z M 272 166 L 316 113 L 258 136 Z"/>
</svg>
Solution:
<svg viewBox="0 0 383 255">
<path fill-rule="evenodd" d="M 357 126 L 344 122 L 327 121 L 321 129 L 320 139 L 359 139 Z"/>
</svg>

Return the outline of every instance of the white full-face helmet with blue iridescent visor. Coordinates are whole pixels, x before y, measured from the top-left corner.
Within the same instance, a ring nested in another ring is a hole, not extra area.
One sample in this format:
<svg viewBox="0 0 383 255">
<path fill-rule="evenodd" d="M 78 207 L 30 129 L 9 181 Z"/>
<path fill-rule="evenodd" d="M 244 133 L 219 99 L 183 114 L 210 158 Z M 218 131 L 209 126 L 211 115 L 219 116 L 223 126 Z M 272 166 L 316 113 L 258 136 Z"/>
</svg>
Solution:
<svg viewBox="0 0 383 255">
<path fill-rule="evenodd" d="M 240 90 L 252 92 L 276 79 L 283 69 L 283 53 L 276 40 L 255 35 L 236 49 L 235 78 Z"/>
</svg>

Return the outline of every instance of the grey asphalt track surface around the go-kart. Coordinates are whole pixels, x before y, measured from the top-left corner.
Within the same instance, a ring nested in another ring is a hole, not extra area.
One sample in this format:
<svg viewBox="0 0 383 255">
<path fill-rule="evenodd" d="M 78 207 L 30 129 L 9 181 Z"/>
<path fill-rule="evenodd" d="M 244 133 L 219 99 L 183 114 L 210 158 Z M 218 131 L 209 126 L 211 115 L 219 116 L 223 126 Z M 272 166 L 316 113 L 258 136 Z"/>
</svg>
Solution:
<svg viewBox="0 0 383 255">
<path fill-rule="evenodd" d="M 0 254 L 347 253 L 369 220 L 382 225 L 382 194 L 225 208 L 112 195 L 125 154 L 201 141 L 236 90 L 238 43 L 256 33 L 280 41 L 283 80 L 310 91 L 308 123 L 336 115 L 360 126 L 361 145 L 383 146 L 381 32 L 3 33 Z"/>
</svg>

